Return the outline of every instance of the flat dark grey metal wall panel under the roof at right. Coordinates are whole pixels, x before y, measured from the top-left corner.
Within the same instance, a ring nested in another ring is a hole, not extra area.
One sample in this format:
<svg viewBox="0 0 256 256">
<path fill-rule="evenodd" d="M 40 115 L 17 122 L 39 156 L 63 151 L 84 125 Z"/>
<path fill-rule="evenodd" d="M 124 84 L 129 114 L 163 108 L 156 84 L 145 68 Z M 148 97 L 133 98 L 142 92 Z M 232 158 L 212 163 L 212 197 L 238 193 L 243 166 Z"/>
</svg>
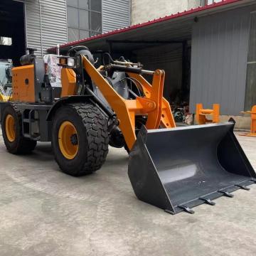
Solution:
<svg viewBox="0 0 256 256">
<path fill-rule="evenodd" d="M 244 109 L 250 6 L 199 18 L 193 26 L 190 110 L 220 104 L 221 114 Z"/>
</svg>

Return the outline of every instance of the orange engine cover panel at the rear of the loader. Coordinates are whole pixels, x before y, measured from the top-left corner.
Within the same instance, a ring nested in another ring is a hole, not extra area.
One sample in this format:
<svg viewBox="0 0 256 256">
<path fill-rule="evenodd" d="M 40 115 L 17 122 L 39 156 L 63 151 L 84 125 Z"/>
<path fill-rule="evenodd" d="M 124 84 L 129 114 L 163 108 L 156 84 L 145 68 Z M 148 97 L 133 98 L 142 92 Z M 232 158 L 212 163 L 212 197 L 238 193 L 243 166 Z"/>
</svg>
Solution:
<svg viewBox="0 0 256 256">
<path fill-rule="evenodd" d="M 34 66 L 16 67 L 11 72 L 13 74 L 11 101 L 35 102 Z"/>
</svg>

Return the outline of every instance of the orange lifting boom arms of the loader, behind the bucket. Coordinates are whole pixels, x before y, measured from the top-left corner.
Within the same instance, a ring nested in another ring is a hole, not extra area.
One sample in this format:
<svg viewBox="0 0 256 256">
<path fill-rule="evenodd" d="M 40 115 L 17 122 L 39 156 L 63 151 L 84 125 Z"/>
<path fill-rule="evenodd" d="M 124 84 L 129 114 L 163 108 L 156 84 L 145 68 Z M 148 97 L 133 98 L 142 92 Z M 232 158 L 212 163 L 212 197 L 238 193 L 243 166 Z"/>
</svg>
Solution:
<svg viewBox="0 0 256 256">
<path fill-rule="evenodd" d="M 129 149 L 132 149 L 136 141 L 135 116 L 147 114 L 147 129 L 158 129 L 160 124 L 164 128 L 175 127 L 174 117 L 171 113 L 169 103 L 163 97 L 164 90 L 164 70 L 154 71 L 152 85 L 147 82 L 142 75 L 128 73 L 131 78 L 136 78 L 141 82 L 146 97 L 137 97 L 136 100 L 126 100 L 120 96 L 99 71 L 82 56 L 82 65 L 95 85 L 100 88 L 102 95 L 117 114 L 119 128 L 124 135 L 125 142 Z"/>
</svg>

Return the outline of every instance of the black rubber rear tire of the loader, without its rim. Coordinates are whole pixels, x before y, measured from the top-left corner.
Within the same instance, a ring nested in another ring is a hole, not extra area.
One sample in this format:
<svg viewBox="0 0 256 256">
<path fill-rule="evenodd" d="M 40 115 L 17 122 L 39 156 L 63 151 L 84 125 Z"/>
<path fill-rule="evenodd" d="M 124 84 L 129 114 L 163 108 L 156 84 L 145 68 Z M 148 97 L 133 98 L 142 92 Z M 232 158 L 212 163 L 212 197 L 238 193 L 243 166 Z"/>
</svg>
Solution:
<svg viewBox="0 0 256 256">
<path fill-rule="evenodd" d="M 11 114 L 14 117 L 15 122 L 15 140 L 14 142 L 9 142 L 9 139 L 6 135 L 6 116 Z M 11 154 L 29 154 L 36 147 L 36 141 L 23 137 L 22 134 L 22 117 L 21 112 L 18 110 L 18 107 L 15 103 L 9 103 L 4 107 L 1 117 L 1 129 L 4 138 L 4 144 L 6 149 Z"/>
</svg>

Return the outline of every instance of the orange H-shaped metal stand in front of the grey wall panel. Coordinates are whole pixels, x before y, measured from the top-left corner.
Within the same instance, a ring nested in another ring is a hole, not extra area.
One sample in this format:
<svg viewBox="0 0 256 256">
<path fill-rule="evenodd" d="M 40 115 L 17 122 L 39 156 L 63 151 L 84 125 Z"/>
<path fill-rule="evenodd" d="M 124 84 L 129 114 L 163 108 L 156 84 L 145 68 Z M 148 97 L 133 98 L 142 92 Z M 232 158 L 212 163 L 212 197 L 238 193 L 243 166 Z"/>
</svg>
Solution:
<svg viewBox="0 0 256 256">
<path fill-rule="evenodd" d="M 207 119 L 206 115 L 212 116 L 212 119 Z M 213 110 L 203 109 L 203 104 L 196 104 L 196 122 L 198 124 L 217 123 L 220 122 L 220 105 L 213 104 Z"/>
</svg>

